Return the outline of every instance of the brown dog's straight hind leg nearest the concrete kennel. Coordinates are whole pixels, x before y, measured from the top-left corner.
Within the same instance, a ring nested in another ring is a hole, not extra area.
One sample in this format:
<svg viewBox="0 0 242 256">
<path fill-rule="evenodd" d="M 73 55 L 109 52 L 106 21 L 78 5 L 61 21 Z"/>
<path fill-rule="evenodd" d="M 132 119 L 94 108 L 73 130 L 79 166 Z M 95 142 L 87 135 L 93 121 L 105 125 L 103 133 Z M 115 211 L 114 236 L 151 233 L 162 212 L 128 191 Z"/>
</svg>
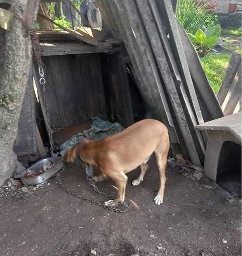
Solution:
<svg viewBox="0 0 242 256">
<path fill-rule="evenodd" d="M 154 198 L 155 204 L 160 205 L 163 203 L 164 191 L 166 187 L 166 164 L 167 164 L 167 156 L 169 152 L 169 139 L 167 143 L 159 143 L 156 150 L 156 160 L 158 164 L 158 168 L 160 171 L 160 189 L 158 194 Z"/>
</svg>

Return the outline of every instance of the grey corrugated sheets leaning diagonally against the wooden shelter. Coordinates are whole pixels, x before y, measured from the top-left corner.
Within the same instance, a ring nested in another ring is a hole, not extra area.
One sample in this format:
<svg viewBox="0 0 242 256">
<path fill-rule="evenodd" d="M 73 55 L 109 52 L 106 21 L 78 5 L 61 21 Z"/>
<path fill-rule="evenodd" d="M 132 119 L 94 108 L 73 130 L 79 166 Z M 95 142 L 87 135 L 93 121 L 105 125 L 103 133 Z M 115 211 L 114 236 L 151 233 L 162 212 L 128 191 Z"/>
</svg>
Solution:
<svg viewBox="0 0 242 256">
<path fill-rule="evenodd" d="M 193 164 L 203 164 L 207 134 L 197 131 L 195 126 L 203 123 L 204 116 L 211 116 L 204 107 L 205 91 L 209 91 L 215 109 L 211 119 L 223 114 L 208 82 L 198 86 L 200 81 L 194 80 L 194 70 L 191 72 L 187 49 L 183 47 L 184 34 L 181 36 L 170 0 L 97 2 L 114 37 L 124 42 L 140 92 L 147 104 L 158 110 L 158 119 L 168 126 L 171 142 L 179 142 L 182 153 Z M 190 57 L 198 58 L 196 53 Z M 203 74 L 201 64 L 197 72 Z M 197 97 L 197 87 L 202 97 Z"/>
</svg>

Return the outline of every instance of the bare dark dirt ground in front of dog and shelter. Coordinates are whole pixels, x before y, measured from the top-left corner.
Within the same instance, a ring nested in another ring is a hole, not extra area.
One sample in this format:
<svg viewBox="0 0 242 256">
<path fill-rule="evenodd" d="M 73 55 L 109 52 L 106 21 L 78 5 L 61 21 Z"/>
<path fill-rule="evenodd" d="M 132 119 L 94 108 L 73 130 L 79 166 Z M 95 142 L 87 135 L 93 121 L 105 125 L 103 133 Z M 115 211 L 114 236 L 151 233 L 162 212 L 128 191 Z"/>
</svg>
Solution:
<svg viewBox="0 0 242 256">
<path fill-rule="evenodd" d="M 240 256 L 241 203 L 206 178 L 199 182 L 182 176 L 174 162 L 167 169 L 164 203 L 155 206 L 159 188 L 155 159 L 145 181 L 138 187 L 131 181 L 139 170 L 128 174 L 126 201 L 133 205 L 116 213 L 64 192 L 51 178 L 49 185 L 22 196 L 0 197 L 1 256 L 87 256 L 90 246 L 97 256 Z M 87 184 L 84 170 L 66 166 L 61 176 L 69 190 L 99 202 L 105 198 Z M 112 181 L 98 184 L 115 195 Z M 204 252 L 205 250 L 205 252 Z M 204 253 L 203 253 L 204 252 Z"/>
</svg>

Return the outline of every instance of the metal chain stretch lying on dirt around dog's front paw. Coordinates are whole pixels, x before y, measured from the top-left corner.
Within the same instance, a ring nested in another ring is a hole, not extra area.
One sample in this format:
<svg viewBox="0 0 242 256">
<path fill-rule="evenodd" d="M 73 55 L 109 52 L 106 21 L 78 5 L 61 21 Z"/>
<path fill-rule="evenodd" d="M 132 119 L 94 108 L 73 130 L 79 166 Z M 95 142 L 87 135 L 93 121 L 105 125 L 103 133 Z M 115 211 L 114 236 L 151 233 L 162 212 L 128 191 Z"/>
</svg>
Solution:
<svg viewBox="0 0 242 256">
<path fill-rule="evenodd" d="M 103 204 L 103 203 L 99 203 L 99 202 L 97 202 L 97 201 L 91 200 L 91 199 L 89 199 L 89 198 L 87 198 L 87 197 L 84 197 L 84 196 L 82 196 L 82 195 L 77 195 L 76 193 L 67 190 L 67 188 L 63 185 L 63 183 L 62 183 L 62 181 L 61 181 L 61 179 L 60 179 L 60 176 L 61 176 L 61 172 L 59 172 L 59 173 L 56 174 L 57 181 L 58 181 L 60 187 L 61 187 L 65 192 L 67 192 L 69 195 L 72 195 L 72 196 L 77 197 L 77 198 L 79 198 L 79 199 L 82 199 L 82 200 L 84 200 L 84 201 L 93 203 L 94 205 L 101 206 L 101 207 L 103 207 L 104 209 L 112 210 L 113 212 L 118 212 L 118 213 L 124 213 L 124 212 L 126 212 L 126 210 L 127 210 L 128 207 L 129 207 L 129 205 L 128 205 L 127 203 L 118 201 L 120 204 L 123 204 L 123 205 L 125 205 L 125 207 L 126 207 L 126 209 L 120 210 L 120 209 L 117 209 L 117 208 L 115 208 L 115 207 L 111 207 L 111 206 L 105 205 L 105 204 Z M 89 184 L 90 184 L 91 186 L 93 186 L 94 184 L 90 183 L 90 179 L 89 179 L 89 178 L 87 178 L 87 179 L 89 180 Z M 102 196 L 108 196 L 108 195 L 106 195 L 105 193 L 100 192 L 99 189 L 98 189 L 95 185 L 93 186 L 93 188 L 95 188 L 95 189 L 94 189 L 95 192 L 99 193 L 100 195 L 102 195 Z M 108 197 L 110 197 L 110 196 L 108 196 Z M 110 198 L 112 198 L 112 197 L 110 197 Z"/>
</svg>

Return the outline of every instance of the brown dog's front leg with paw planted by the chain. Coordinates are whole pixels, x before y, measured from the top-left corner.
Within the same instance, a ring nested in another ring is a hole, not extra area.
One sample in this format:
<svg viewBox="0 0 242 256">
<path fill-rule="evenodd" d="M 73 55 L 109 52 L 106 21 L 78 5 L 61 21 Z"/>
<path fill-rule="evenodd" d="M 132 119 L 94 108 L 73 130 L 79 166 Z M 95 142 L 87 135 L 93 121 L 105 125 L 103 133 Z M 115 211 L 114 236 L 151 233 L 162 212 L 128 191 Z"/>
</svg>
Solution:
<svg viewBox="0 0 242 256">
<path fill-rule="evenodd" d="M 110 175 L 110 178 L 115 181 L 118 193 L 117 193 L 117 199 L 114 200 L 108 200 L 105 202 L 105 205 L 107 206 L 116 206 L 119 204 L 119 202 L 123 202 L 125 200 L 125 189 L 128 181 L 128 177 L 123 173 L 112 173 Z"/>
</svg>

